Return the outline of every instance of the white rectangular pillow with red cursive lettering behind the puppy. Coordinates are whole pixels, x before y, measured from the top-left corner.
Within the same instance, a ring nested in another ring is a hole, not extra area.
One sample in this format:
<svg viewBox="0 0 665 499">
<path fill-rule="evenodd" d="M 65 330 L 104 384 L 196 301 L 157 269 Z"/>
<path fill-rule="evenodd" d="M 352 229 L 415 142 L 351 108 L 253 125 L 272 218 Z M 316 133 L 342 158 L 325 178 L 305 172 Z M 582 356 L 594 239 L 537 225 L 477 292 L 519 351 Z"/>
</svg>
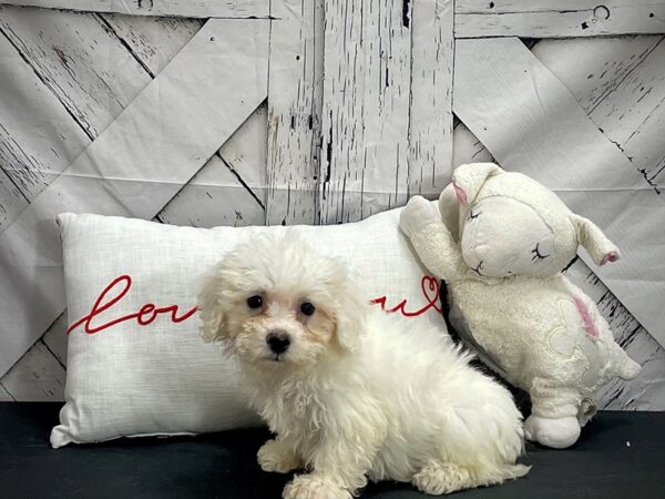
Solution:
<svg viewBox="0 0 665 499">
<path fill-rule="evenodd" d="M 437 324 L 439 282 L 398 227 L 399 210 L 295 230 L 344 256 L 376 306 Z M 233 359 L 205 344 L 195 308 L 202 275 L 236 243 L 286 227 L 193 228 L 62 214 L 69 345 L 65 405 L 51 444 L 183 435 L 255 425 Z"/>
</svg>

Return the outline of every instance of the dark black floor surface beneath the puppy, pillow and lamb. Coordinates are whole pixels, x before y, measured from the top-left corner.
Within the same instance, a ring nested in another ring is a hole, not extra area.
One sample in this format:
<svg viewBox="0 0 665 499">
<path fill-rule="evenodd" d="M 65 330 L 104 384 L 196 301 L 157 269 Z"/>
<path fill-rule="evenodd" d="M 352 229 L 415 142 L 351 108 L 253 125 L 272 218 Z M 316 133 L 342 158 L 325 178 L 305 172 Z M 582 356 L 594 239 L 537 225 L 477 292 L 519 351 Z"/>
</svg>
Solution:
<svg viewBox="0 0 665 499">
<path fill-rule="evenodd" d="M 278 498 L 286 476 L 265 473 L 265 430 L 196 438 L 122 439 L 53 450 L 60 404 L 0 403 L 0 498 Z M 630 446 L 628 444 L 630 442 Z M 665 498 L 665 413 L 601 413 L 575 447 L 529 445 L 520 480 L 454 493 L 474 498 Z M 424 498 L 405 483 L 362 498 Z"/>
</svg>

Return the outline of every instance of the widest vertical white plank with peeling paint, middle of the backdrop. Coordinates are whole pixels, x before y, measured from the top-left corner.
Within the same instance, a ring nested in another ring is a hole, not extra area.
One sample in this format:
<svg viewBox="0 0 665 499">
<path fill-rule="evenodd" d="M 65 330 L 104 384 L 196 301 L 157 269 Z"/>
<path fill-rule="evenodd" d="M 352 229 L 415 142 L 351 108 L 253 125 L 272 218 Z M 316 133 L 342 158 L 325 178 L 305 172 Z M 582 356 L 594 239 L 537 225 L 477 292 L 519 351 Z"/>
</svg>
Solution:
<svg viewBox="0 0 665 499">
<path fill-rule="evenodd" d="M 410 2 L 326 2 L 320 221 L 406 202 Z"/>
</svg>

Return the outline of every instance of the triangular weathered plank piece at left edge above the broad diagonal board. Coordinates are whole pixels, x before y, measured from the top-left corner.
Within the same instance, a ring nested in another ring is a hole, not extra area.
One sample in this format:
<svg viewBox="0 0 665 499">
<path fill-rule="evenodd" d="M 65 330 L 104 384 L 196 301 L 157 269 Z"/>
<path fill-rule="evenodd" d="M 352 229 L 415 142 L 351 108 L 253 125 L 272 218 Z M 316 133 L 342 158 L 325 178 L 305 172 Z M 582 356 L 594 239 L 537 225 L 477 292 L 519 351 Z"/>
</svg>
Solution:
<svg viewBox="0 0 665 499">
<path fill-rule="evenodd" d="M 21 198 L 3 182 L 7 226 L 12 214 L 49 185 L 90 140 L 1 34 L 0 89 L 0 167 L 22 194 Z"/>
</svg>

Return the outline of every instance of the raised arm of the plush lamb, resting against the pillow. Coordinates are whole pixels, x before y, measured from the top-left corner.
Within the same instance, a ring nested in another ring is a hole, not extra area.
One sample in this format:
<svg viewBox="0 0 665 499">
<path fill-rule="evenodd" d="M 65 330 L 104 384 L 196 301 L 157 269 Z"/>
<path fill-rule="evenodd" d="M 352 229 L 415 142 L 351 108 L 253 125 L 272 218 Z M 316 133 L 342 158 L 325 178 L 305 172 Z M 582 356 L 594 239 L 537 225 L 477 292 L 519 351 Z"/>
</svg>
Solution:
<svg viewBox="0 0 665 499">
<path fill-rule="evenodd" d="M 444 281 L 469 278 L 469 267 L 434 203 L 413 196 L 401 212 L 399 225 L 411 240 L 420 261 Z"/>
</svg>

